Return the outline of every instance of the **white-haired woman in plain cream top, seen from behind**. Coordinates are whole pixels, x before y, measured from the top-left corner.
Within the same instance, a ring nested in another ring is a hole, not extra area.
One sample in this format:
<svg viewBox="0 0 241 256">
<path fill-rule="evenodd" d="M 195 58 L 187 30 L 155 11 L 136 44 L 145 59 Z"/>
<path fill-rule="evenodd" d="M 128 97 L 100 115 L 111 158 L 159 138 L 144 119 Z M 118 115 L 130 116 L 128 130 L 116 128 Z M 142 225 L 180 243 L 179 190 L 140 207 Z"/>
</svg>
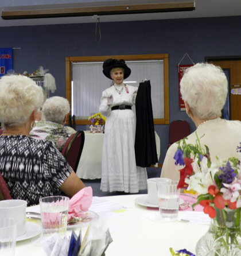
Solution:
<svg viewBox="0 0 241 256">
<path fill-rule="evenodd" d="M 220 118 L 228 90 L 223 70 L 213 64 L 198 63 L 186 69 L 181 79 L 180 90 L 186 113 L 195 123 L 197 136 L 202 137 L 201 146 L 208 146 L 211 161 L 216 162 L 216 156 L 221 159 L 238 157 L 236 148 L 241 142 L 241 122 Z M 186 143 L 195 145 L 196 133 L 190 134 Z M 178 170 L 182 169 L 182 166 L 176 166 L 173 158 L 177 146 L 177 143 L 174 143 L 168 149 L 161 177 L 180 179 Z"/>
</svg>

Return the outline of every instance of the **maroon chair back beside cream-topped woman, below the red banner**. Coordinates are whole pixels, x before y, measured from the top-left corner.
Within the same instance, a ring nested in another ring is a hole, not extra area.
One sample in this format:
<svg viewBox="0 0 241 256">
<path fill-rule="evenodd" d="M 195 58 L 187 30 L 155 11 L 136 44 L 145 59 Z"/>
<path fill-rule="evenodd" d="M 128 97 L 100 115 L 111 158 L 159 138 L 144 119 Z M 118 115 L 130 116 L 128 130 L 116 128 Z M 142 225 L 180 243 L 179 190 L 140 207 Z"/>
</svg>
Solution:
<svg viewBox="0 0 241 256">
<path fill-rule="evenodd" d="M 175 120 L 172 123 L 170 123 L 168 149 L 170 145 L 177 141 L 180 141 L 180 139 L 187 137 L 189 134 L 190 126 L 189 123 L 185 120 Z"/>
</svg>

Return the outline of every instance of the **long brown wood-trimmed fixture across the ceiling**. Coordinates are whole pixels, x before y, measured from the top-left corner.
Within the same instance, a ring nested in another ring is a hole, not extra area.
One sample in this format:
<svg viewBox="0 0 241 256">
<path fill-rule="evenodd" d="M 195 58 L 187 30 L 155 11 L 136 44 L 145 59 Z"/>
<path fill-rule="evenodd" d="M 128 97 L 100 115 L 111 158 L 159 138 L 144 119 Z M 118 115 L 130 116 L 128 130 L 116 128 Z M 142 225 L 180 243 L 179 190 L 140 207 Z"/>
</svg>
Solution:
<svg viewBox="0 0 241 256">
<path fill-rule="evenodd" d="M 172 0 L 172 3 L 169 3 L 168 0 L 129 0 L 113 1 L 111 5 L 110 2 L 85 2 L 4 7 L 1 16 L 3 20 L 17 20 L 192 10 L 195 10 L 195 0 Z"/>
</svg>

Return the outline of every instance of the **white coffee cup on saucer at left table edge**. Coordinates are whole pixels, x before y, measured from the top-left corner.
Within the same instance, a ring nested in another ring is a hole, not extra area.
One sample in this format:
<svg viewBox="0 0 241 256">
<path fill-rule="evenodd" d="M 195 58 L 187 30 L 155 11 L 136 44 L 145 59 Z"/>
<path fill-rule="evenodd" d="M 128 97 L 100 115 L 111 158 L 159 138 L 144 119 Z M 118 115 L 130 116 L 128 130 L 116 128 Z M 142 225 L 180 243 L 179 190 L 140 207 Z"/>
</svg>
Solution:
<svg viewBox="0 0 241 256">
<path fill-rule="evenodd" d="M 13 218 L 17 220 L 17 236 L 26 232 L 27 201 L 19 199 L 0 201 L 0 218 Z"/>
</svg>

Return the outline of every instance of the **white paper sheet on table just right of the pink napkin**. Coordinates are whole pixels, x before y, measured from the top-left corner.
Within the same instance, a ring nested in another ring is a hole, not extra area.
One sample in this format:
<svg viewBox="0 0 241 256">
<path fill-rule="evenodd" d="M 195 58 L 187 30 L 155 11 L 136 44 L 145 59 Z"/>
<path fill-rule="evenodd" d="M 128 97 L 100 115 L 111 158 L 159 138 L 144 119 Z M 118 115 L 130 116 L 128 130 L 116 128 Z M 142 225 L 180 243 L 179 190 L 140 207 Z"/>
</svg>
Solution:
<svg viewBox="0 0 241 256">
<path fill-rule="evenodd" d="M 126 210 L 128 208 L 131 207 L 126 204 L 120 204 L 115 201 L 103 199 L 103 197 L 94 196 L 92 199 L 90 211 L 96 212 L 96 214 L 100 214 L 103 212 L 112 212 L 123 209 Z"/>
</svg>

